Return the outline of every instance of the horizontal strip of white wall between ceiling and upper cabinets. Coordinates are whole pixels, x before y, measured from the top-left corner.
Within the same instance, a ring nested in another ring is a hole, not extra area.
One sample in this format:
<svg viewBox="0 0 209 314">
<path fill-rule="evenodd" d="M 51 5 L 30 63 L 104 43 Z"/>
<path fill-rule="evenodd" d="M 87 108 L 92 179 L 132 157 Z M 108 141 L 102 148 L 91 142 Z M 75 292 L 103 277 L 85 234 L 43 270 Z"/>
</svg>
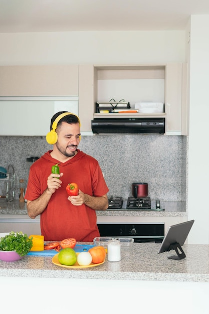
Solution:
<svg viewBox="0 0 209 314">
<path fill-rule="evenodd" d="M 184 31 L 0 33 L 0 65 L 184 62 Z"/>
</svg>

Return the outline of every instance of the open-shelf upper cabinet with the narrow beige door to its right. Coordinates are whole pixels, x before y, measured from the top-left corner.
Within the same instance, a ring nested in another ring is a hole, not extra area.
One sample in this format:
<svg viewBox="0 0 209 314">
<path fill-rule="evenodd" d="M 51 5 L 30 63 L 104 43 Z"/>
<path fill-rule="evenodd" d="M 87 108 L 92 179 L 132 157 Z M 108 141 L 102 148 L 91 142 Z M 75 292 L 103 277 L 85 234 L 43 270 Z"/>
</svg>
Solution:
<svg viewBox="0 0 209 314">
<path fill-rule="evenodd" d="M 162 65 L 94 66 L 94 118 L 113 117 L 96 113 L 96 102 L 163 102 L 164 113 L 134 113 L 134 117 L 165 117 L 166 135 L 188 134 L 187 66 L 181 63 Z M 114 117 L 121 114 L 114 113 Z M 123 114 L 133 117 L 133 114 Z"/>
</svg>

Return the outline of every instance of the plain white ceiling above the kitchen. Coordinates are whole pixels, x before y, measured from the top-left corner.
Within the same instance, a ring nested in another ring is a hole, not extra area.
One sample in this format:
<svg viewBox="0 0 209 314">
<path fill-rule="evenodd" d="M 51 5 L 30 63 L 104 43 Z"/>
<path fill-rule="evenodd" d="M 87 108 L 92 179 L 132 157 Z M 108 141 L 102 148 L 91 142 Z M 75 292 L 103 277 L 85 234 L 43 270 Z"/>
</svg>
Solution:
<svg viewBox="0 0 209 314">
<path fill-rule="evenodd" d="M 0 0 L 0 33 L 183 30 L 209 0 Z"/>
</svg>

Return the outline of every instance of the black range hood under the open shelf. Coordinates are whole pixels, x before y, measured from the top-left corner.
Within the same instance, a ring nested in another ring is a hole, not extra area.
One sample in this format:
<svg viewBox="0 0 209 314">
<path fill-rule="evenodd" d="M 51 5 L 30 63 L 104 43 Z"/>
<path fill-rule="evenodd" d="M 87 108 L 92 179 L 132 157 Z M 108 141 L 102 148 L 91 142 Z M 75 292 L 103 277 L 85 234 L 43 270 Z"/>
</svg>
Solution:
<svg viewBox="0 0 209 314">
<path fill-rule="evenodd" d="M 93 133 L 165 133 L 165 118 L 95 118 Z"/>
</svg>

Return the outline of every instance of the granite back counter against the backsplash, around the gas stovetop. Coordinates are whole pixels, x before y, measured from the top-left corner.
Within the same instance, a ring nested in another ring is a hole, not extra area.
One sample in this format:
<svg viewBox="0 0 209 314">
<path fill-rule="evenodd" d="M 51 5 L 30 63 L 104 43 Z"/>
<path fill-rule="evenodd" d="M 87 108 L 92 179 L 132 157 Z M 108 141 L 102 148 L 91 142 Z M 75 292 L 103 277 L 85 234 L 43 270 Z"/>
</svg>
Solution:
<svg viewBox="0 0 209 314">
<path fill-rule="evenodd" d="M 147 216 L 147 217 L 186 217 L 185 202 L 161 202 L 161 208 L 164 211 L 153 210 L 127 210 L 125 202 L 121 209 L 107 209 L 106 211 L 96 211 L 97 216 Z M 5 199 L 0 200 L 0 214 L 9 215 L 27 215 L 26 203 L 20 203 L 19 200 L 7 202 Z"/>
</svg>

